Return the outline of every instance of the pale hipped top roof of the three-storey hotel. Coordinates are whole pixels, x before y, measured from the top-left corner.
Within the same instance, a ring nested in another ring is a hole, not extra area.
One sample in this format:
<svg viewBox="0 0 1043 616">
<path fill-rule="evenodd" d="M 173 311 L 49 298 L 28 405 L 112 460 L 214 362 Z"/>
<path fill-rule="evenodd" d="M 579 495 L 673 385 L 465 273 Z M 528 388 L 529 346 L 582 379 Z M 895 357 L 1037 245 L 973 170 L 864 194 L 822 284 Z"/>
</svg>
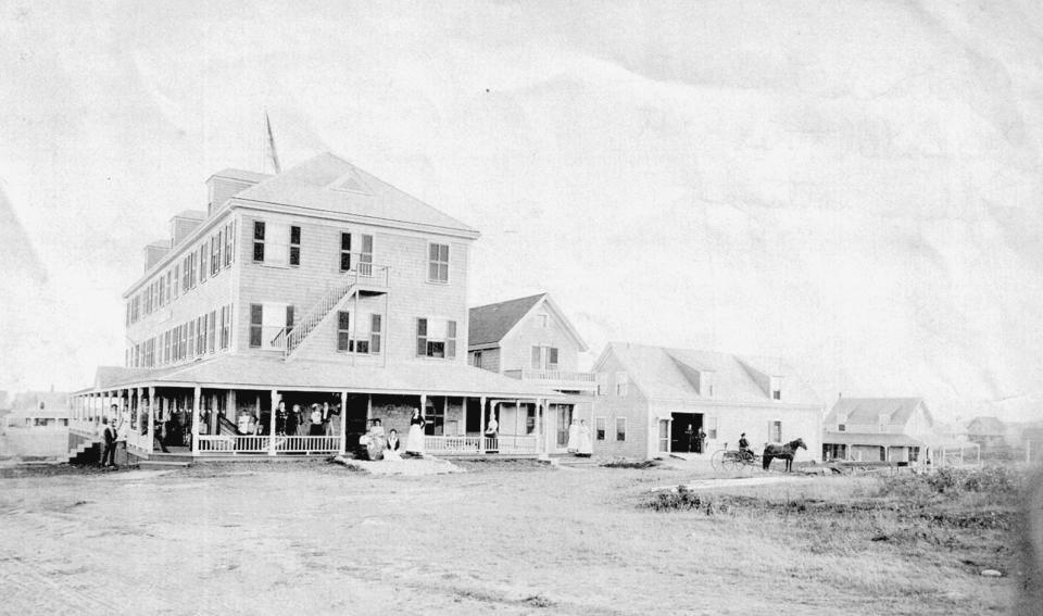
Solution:
<svg viewBox="0 0 1043 616">
<path fill-rule="evenodd" d="M 460 221 L 328 152 L 267 177 L 234 199 L 325 210 L 369 218 L 374 224 L 411 223 L 478 237 L 478 231 Z"/>
</svg>

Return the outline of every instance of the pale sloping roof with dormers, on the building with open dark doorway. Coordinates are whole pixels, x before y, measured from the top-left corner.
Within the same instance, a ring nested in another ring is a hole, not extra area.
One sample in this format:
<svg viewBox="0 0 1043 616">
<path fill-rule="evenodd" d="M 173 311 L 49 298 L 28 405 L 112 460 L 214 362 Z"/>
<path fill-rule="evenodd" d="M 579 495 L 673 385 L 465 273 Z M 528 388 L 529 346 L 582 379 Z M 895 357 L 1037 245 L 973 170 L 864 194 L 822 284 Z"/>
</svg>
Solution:
<svg viewBox="0 0 1043 616">
<path fill-rule="evenodd" d="M 627 374 L 645 397 L 663 401 L 769 403 L 770 393 L 751 374 L 747 359 L 714 351 L 674 349 L 610 342 L 594 364 L 601 369 L 608 355 L 615 355 L 626 367 Z M 761 360 L 758 366 L 771 366 L 767 374 L 783 377 L 783 404 L 819 405 L 818 397 L 796 372 L 782 360 Z M 702 395 L 694 382 L 699 372 L 714 373 L 714 395 Z"/>
</svg>

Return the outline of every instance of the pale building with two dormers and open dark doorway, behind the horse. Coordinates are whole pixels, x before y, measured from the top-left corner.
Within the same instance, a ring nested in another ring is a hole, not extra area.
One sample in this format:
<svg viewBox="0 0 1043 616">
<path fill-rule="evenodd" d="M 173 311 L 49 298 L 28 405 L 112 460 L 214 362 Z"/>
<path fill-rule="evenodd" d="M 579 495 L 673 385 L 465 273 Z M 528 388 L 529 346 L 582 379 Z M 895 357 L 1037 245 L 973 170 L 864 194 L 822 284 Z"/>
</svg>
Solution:
<svg viewBox="0 0 1043 616">
<path fill-rule="evenodd" d="M 824 407 L 781 360 L 611 342 L 593 369 L 594 455 L 689 454 L 700 429 L 704 455 L 737 449 L 743 432 L 755 451 L 802 438 L 817 452 L 821 443 Z"/>
</svg>

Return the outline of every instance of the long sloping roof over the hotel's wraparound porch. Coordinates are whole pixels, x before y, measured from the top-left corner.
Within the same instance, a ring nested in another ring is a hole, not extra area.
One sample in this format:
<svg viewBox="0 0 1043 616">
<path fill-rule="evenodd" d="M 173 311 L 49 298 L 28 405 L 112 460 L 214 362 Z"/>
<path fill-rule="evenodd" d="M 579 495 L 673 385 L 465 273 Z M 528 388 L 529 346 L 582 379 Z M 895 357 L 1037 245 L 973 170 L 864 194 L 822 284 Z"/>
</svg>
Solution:
<svg viewBox="0 0 1043 616">
<path fill-rule="evenodd" d="M 278 357 L 242 355 L 223 355 L 188 365 L 125 373 L 123 378 L 110 379 L 103 388 L 196 385 L 229 389 L 347 390 L 506 399 L 565 398 L 536 382 L 508 378 L 462 363 L 417 361 L 380 367 L 310 360 L 285 362 Z M 84 391 L 97 389 L 102 388 Z"/>
</svg>

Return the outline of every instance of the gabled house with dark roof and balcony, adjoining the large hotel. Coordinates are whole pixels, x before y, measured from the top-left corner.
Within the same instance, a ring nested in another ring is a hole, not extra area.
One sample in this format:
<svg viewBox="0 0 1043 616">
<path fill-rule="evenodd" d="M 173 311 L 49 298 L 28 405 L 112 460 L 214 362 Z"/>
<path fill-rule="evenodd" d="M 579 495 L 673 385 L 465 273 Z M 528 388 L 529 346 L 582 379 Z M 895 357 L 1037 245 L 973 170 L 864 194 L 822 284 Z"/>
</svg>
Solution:
<svg viewBox="0 0 1043 616">
<path fill-rule="evenodd" d="M 573 419 L 591 422 L 593 373 L 578 369 L 588 347 L 549 293 L 539 293 L 470 309 L 468 355 L 473 366 L 549 387 L 566 394 L 550 404 L 543 437 L 548 453 L 568 444 Z M 536 410 L 531 404 L 500 404 L 501 431 L 530 433 Z"/>
</svg>

